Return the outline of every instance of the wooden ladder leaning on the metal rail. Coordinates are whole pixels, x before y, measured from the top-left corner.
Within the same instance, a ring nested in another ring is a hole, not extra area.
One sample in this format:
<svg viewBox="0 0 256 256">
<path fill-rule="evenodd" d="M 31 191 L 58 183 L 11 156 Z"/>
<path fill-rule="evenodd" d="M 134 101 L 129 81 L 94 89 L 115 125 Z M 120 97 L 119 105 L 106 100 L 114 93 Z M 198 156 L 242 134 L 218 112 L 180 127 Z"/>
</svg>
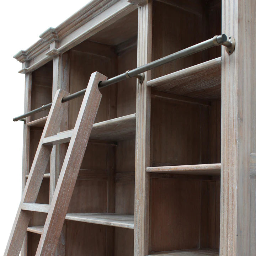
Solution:
<svg viewBox="0 0 256 256">
<path fill-rule="evenodd" d="M 65 104 L 68 104 L 68 102 L 62 104 L 62 98 L 69 95 L 68 92 L 63 90 L 56 92 L 4 256 L 19 255 L 30 222 L 31 211 L 48 213 L 36 256 L 54 255 L 91 129 L 100 105 L 102 95 L 98 90 L 98 83 L 106 79 L 106 76 L 98 72 L 91 74 L 54 191 L 52 203 L 50 205 L 37 204 L 35 202 L 53 147 L 53 145 L 44 144 L 44 140 L 47 138 L 49 142 L 50 137 L 57 134 L 62 120 L 63 109 Z"/>
</svg>

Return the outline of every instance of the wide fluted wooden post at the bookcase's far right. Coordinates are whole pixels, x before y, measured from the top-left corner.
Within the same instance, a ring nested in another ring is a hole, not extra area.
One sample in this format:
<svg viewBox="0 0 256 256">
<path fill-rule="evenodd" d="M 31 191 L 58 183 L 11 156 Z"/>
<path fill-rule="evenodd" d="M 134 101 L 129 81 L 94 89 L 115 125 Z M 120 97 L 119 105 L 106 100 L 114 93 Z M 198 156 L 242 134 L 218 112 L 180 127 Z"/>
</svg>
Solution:
<svg viewBox="0 0 256 256">
<path fill-rule="evenodd" d="M 250 154 L 255 153 L 255 1 L 223 0 L 220 256 L 253 256 L 250 243 Z M 254 196 L 255 197 L 255 192 Z M 254 216 L 255 219 L 255 216 Z"/>
</svg>

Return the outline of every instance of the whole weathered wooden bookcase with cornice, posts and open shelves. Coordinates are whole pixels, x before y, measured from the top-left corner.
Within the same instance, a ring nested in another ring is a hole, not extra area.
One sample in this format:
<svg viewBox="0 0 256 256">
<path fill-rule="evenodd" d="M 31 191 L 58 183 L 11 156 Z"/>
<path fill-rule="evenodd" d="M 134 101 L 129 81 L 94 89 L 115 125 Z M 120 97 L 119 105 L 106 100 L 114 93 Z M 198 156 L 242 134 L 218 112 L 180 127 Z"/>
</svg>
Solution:
<svg viewBox="0 0 256 256">
<path fill-rule="evenodd" d="M 58 256 L 256 255 L 255 12 L 255 0 L 93 0 L 15 55 L 26 113 L 94 71 L 112 78 L 215 34 L 236 41 L 100 90 Z M 23 188 L 48 112 L 24 123 Z M 67 146 L 53 147 L 37 203 L 51 203 Z M 31 214 L 22 256 L 47 216 Z"/>
</svg>

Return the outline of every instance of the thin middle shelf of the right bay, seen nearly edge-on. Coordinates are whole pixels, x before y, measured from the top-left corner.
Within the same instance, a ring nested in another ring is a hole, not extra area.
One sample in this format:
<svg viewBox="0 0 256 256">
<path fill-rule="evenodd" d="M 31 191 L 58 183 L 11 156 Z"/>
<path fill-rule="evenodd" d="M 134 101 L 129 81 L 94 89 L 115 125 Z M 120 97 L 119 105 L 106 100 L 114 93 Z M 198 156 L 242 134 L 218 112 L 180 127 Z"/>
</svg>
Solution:
<svg viewBox="0 0 256 256">
<path fill-rule="evenodd" d="M 220 175 L 221 164 L 175 165 L 146 167 L 147 172 L 168 174 Z"/>
</svg>

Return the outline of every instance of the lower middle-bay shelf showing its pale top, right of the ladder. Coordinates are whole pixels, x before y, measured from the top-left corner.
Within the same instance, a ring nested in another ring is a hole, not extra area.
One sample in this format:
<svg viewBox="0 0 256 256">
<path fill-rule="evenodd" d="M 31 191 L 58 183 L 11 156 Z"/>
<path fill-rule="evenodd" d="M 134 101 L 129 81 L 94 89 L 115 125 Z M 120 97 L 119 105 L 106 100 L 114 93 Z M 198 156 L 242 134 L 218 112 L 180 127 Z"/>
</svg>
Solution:
<svg viewBox="0 0 256 256">
<path fill-rule="evenodd" d="M 68 213 L 65 219 L 134 229 L 134 215 L 116 213 Z"/>
</svg>

